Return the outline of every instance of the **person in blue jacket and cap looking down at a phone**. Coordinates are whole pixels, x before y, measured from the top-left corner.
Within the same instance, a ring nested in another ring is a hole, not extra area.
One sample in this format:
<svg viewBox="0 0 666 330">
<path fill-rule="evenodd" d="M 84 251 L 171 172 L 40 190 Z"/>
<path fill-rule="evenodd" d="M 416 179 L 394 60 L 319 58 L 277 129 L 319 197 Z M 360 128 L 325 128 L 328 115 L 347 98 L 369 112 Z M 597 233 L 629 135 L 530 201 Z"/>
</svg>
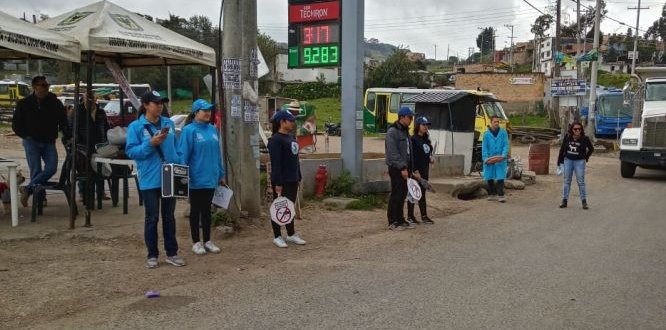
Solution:
<svg viewBox="0 0 666 330">
<path fill-rule="evenodd" d="M 173 122 L 162 117 L 162 97 L 159 93 L 147 92 L 141 97 L 139 118 L 127 129 L 125 153 L 137 164 L 139 189 L 146 210 L 144 239 L 148 248 L 146 267 L 156 268 L 159 250 L 157 248 L 157 222 L 162 205 L 162 230 L 166 262 L 174 266 L 184 266 L 185 261 L 178 256 L 176 241 L 176 199 L 162 198 L 162 163 L 181 163 L 176 149 L 176 128 Z"/>
</svg>

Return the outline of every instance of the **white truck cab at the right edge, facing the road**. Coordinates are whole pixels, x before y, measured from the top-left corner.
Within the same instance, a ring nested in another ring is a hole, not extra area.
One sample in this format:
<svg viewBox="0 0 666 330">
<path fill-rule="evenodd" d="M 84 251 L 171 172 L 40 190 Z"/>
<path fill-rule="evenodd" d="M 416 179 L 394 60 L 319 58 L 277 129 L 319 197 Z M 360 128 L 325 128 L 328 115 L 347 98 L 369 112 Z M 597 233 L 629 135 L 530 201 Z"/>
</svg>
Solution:
<svg viewBox="0 0 666 330">
<path fill-rule="evenodd" d="M 636 68 L 638 91 L 633 102 L 640 126 L 626 128 L 620 140 L 620 174 L 631 178 L 636 167 L 666 169 L 666 68 Z M 631 99 L 629 84 L 625 101 Z"/>
</svg>

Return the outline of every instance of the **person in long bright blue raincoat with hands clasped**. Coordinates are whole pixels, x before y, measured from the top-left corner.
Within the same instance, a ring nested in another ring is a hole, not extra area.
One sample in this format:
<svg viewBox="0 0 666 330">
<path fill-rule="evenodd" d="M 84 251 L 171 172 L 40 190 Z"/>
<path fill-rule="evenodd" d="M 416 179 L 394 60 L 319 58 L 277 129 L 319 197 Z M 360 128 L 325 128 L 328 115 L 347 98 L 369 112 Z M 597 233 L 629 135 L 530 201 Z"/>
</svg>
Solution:
<svg viewBox="0 0 666 330">
<path fill-rule="evenodd" d="M 483 180 L 488 183 L 488 200 L 501 203 L 504 197 L 507 157 L 509 155 L 509 135 L 499 127 L 499 117 L 491 117 L 490 129 L 483 134 L 481 153 L 483 157 Z M 499 197 L 498 197 L 499 196 Z"/>
</svg>

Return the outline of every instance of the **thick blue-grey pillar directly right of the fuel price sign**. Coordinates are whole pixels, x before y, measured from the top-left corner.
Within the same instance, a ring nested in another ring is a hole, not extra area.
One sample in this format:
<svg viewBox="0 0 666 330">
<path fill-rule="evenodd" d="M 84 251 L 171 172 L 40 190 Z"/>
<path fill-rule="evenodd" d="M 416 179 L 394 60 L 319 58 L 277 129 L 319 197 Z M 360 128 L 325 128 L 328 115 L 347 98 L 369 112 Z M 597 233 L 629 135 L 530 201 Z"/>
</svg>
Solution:
<svg viewBox="0 0 666 330">
<path fill-rule="evenodd" d="M 363 177 L 363 32 L 365 0 L 342 1 L 342 166 Z"/>
</svg>

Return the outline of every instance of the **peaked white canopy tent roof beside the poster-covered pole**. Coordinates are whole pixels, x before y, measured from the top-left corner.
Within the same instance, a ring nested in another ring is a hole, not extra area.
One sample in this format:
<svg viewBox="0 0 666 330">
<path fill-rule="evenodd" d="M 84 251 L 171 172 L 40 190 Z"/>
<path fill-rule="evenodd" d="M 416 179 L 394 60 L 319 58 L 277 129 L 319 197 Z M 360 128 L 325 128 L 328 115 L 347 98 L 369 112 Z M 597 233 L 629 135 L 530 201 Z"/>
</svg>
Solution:
<svg viewBox="0 0 666 330">
<path fill-rule="evenodd" d="M 215 66 L 215 51 L 109 1 L 44 20 L 39 27 L 74 37 L 96 61 L 121 67 L 201 64 Z"/>
</svg>

